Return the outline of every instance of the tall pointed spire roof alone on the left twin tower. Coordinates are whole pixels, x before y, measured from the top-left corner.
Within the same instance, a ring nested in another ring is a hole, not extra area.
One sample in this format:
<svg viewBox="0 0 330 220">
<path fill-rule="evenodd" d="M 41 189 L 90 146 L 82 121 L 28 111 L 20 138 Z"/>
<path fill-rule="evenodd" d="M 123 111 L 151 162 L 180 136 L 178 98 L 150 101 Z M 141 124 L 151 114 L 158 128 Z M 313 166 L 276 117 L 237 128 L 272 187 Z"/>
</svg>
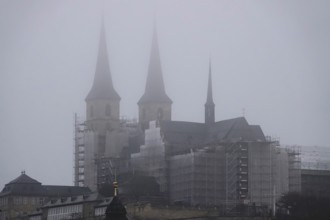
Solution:
<svg viewBox="0 0 330 220">
<path fill-rule="evenodd" d="M 91 99 L 120 100 L 120 96 L 112 83 L 103 17 L 94 82 L 92 89 L 86 97 L 86 101 Z"/>
</svg>

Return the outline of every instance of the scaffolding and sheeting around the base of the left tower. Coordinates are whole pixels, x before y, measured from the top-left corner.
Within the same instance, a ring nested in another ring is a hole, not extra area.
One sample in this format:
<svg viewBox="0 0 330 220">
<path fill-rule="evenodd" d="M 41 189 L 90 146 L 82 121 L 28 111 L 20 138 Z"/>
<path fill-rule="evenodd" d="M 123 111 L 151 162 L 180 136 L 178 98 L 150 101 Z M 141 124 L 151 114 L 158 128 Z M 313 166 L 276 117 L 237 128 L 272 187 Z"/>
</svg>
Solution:
<svg viewBox="0 0 330 220">
<path fill-rule="evenodd" d="M 117 174 L 128 171 L 128 159 L 139 146 L 141 133 L 137 121 L 127 118 L 120 119 L 118 132 L 120 134 L 117 134 L 116 140 L 108 133 L 100 135 L 88 129 L 84 119 L 74 115 L 75 186 L 88 186 L 96 190 L 100 185 L 113 181 L 114 168 Z"/>
</svg>

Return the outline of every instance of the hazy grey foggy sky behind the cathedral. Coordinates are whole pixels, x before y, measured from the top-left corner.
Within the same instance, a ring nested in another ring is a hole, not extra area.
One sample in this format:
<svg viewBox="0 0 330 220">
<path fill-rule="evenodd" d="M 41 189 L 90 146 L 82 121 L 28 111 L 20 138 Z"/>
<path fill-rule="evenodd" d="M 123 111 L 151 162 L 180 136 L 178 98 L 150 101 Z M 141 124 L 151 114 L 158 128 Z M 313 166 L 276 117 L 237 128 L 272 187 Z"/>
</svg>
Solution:
<svg viewBox="0 0 330 220">
<path fill-rule="evenodd" d="M 102 9 L 103 8 L 103 9 Z M 282 144 L 329 146 L 330 1 L 0 1 L 0 188 L 26 170 L 71 184 L 101 24 L 121 115 L 137 117 L 157 21 L 173 120 L 242 116 Z"/>
</svg>

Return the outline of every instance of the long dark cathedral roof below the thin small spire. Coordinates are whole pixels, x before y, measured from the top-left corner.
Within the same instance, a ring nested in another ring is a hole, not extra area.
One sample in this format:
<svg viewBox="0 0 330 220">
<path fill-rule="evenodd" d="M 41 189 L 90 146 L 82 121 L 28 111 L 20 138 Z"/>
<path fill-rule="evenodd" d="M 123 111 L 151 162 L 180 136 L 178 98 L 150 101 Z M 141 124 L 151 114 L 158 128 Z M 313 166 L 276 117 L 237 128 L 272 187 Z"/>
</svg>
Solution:
<svg viewBox="0 0 330 220">
<path fill-rule="evenodd" d="M 259 125 L 249 125 L 244 117 L 215 122 L 212 125 L 196 122 L 161 121 L 164 142 L 171 146 L 171 154 L 189 151 L 192 147 L 211 143 L 266 141 Z"/>
</svg>

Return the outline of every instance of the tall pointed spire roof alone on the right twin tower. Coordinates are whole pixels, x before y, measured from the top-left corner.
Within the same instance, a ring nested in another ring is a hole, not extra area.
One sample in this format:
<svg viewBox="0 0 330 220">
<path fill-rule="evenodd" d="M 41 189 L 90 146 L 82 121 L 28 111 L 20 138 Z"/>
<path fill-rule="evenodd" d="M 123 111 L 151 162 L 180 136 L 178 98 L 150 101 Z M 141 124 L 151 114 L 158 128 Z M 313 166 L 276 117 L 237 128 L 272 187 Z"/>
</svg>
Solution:
<svg viewBox="0 0 330 220">
<path fill-rule="evenodd" d="M 172 103 L 172 100 L 166 95 L 165 92 L 156 26 L 154 26 L 153 30 L 146 88 L 138 104 L 148 102 Z"/>
</svg>

